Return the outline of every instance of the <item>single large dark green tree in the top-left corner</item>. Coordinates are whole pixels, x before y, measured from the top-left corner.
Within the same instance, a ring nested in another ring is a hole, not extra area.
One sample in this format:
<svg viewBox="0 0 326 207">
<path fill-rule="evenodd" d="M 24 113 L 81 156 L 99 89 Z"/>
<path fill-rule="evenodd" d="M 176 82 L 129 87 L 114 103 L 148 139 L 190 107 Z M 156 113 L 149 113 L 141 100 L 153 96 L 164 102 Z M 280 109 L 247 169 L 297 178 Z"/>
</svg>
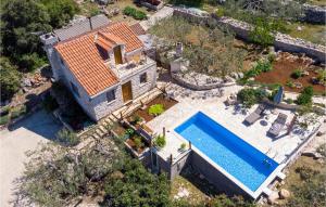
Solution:
<svg viewBox="0 0 326 207">
<path fill-rule="evenodd" d="M 3 5 L 1 21 L 4 55 L 21 61 L 23 54 L 43 53 L 38 35 L 51 30 L 51 26 L 42 4 L 35 0 L 8 1 Z"/>
</svg>

